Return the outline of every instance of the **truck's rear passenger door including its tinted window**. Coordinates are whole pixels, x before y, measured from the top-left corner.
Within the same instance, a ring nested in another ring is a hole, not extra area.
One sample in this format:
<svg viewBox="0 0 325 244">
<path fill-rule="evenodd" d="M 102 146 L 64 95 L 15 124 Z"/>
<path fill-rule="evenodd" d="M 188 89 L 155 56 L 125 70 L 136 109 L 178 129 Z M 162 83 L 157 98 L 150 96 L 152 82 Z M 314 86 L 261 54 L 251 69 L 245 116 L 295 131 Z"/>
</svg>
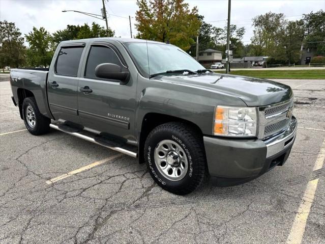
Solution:
<svg viewBox="0 0 325 244">
<path fill-rule="evenodd" d="M 80 124 L 77 113 L 78 72 L 84 50 L 83 43 L 61 46 L 48 77 L 48 102 L 55 120 Z"/>
</svg>

